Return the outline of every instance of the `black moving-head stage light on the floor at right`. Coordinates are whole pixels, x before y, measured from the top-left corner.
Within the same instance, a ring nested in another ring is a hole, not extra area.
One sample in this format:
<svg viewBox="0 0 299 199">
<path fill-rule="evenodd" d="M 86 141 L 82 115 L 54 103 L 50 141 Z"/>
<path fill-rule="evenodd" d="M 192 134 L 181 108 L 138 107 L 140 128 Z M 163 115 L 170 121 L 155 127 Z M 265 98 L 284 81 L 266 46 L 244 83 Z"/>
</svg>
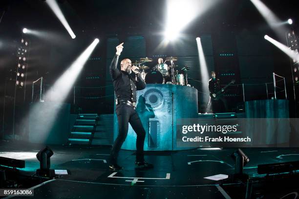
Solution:
<svg viewBox="0 0 299 199">
<path fill-rule="evenodd" d="M 236 150 L 231 157 L 235 160 L 235 177 L 246 179 L 248 175 L 243 174 L 243 167 L 249 162 L 249 158 L 241 149 Z"/>
</svg>

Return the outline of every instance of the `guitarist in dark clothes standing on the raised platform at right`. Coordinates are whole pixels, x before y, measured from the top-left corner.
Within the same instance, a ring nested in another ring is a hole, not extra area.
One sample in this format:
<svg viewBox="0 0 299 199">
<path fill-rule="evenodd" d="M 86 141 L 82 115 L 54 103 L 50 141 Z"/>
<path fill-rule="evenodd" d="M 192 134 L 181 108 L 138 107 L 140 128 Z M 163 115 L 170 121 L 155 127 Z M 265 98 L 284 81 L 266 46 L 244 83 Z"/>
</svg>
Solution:
<svg viewBox="0 0 299 199">
<path fill-rule="evenodd" d="M 210 100 L 208 103 L 208 107 L 212 106 L 213 113 L 221 113 L 221 112 L 227 112 L 227 102 L 226 99 L 221 96 L 215 100 L 216 93 L 218 93 L 221 90 L 221 93 L 224 92 L 224 89 L 220 88 L 220 80 L 216 78 L 216 73 L 214 71 L 211 72 L 211 80 L 209 80 L 209 91 L 210 91 Z M 221 104 L 219 102 L 223 103 L 224 109 L 221 108 Z M 207 109 L 208 109 L 207 107 Z M 208 111 L 208 110 L 207 110 Z"/>
</svg>

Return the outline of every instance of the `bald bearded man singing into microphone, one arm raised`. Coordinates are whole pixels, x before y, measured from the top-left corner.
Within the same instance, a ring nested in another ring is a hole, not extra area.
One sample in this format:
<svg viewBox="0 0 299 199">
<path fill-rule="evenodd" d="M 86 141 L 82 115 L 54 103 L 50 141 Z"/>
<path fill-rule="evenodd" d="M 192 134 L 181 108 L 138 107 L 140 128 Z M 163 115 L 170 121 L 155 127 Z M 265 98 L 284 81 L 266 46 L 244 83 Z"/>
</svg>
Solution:
<svg viewBox="0 0 299 199">
<path fill-rule="evenodd" d="M 116 95 L 116 115 L 118 119 L 118 136 L 115 139 L 110 153 L 109 168 L 113 171 L 121 170 L 123 167 L 117 164 L 117 157 L 122 144 L 128 135 L 128 122 L 137 134 L 136 139 L 136 161 L 135 169 L 152 168 L 153 165 L 144 160 L 144 140 L 146 132 L 142 126 L 141 120 L 135 110 L 136 108 L 136 90 L 142 90 L 146 87 L 142 80 L 138 67 L 132 66 L 131 60 L 121 61 L 121 70 L 117 68 L 117 63 L 123 44 L 116 47 L 116 55 L 110 64 L 110 75 L 113 80 L 114 91 Z"/>
</svg>

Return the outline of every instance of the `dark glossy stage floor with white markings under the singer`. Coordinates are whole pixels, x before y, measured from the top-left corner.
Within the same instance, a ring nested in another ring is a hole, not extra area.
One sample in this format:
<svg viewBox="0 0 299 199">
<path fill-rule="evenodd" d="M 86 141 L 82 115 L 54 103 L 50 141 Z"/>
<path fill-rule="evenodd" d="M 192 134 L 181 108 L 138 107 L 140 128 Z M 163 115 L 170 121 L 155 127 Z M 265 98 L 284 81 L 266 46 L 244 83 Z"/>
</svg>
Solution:
<svg viewBox="0 0 299 199">
<path fill-rule="evenodd" d="M 35 155 L 38 145 L 1 142 L 0 156 L 23 159 L 28 174 L 39 168 Z M 193 149 L 179 152 L 146 152 L 145 159 L 154 164 L 147 171 L 135 171 L 134 151 L 121 150 L 120 172 L 108 169 L 109 147 L 84 148 L 50 146 L 54 151 L 52 169 L 69 169 L 71 175 L 47 181 L 34 189 L 34 199 L 50 198 L 204 198 L 228 199 L 221 180 L 205 177 L 234 173 L 230 155 L 235 148 L 222 150 Z M 244 172 L 250 177 L 257 174 L 257 165 L 299 160 L 298 148 L 244 148 L 250 161 Z M 14 197 L 15 199 L 21 197 Z"/>
</svg>

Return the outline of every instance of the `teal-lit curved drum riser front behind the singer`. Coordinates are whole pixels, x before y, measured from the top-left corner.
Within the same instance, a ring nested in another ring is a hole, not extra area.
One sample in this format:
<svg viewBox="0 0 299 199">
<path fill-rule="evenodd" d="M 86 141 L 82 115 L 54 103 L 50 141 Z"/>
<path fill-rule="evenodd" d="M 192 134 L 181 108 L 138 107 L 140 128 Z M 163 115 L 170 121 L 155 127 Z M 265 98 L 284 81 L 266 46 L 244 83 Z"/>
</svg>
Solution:
<svg viewBox="0 0 299 199">
<path fill-rule="evenodd" d="M 171 84 L 147 84 L 137 91 L 136 111 L 146 130 L 145 151 L 186 150 L 176 147 L 176 119 L 197 118 L 197 89 Z M 115 107 L 114 107 L 115 108 Z M 118 134 L 114 113 L 114 139 Z M 136 150 L 136 134 L 129 125 L 122 149 Z"/>
</svg>

